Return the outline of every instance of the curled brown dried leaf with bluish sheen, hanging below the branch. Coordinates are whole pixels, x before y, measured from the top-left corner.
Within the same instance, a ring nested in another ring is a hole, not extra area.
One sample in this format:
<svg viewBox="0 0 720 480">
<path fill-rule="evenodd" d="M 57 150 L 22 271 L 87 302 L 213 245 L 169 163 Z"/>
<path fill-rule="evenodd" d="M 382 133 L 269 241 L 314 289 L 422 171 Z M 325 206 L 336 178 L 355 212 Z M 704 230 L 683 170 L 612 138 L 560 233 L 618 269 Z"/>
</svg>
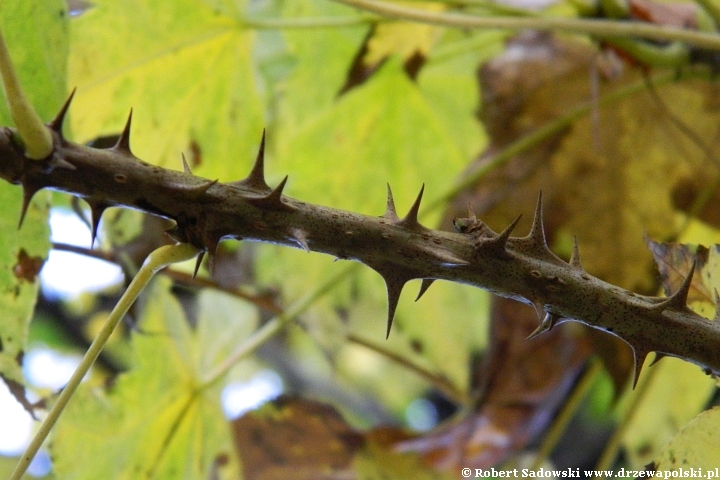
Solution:
<svg viewBox="0 0 720 480">
<path fill-rule="evenodd" d="M 523 449 L 546 427 L 591 353 L 575 325 L 525 341 L 535 310 L 493 298 L 491 345 L 477 372 L 479 399 L 467 417 L 423 437 L 398 443 L 437 468 L 487 468 Z"/>
</svg>

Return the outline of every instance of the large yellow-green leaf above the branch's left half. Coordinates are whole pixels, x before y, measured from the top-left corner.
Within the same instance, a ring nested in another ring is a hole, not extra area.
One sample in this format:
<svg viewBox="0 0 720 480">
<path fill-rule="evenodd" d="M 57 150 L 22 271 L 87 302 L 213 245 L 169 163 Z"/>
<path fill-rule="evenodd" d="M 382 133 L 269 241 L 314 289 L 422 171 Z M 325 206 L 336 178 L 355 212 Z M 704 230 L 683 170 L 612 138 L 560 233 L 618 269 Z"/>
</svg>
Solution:
<svg viewBox="0 0 720 480">
<path fill-rule="evenodd" d="M 223 181 L 247 175 L 263 128 L 241 7 L 199 0 L 101 0 L 73 23 L 70 78 L 79 140 L 122 129 L 134 108 L 140 158 Z"/>
</svg>

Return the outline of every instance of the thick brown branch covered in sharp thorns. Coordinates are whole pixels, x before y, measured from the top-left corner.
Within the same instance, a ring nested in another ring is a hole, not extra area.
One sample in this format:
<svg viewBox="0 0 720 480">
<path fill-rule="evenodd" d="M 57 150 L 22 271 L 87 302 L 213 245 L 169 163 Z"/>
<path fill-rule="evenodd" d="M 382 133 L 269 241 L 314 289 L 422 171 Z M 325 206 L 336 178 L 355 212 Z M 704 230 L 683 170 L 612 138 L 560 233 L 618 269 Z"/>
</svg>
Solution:
<svg viewBox="0 0 720 480">
<path fill-rule="evenodd" d="M 72 97 L 71 97 L 72 98 Z M 110 206 L 135 208 L 175 221 L 168 232 L 179 242 L 213 254 L 223 239 L 270 242 L 355 260 L 377 271 L 388 293 L 387 334 L 406 282 L 422 279 L 418 298 L 437 279 L 465 283 L 533 305 L 542 323 L 530 338 L 565 321 L 613 333 L 635 353 L 635 382 L 647 354 L 655 351 L 720 374 L 720 326 L 692 312 L 686 299 L 692 271 L 670 297 L 650 297 L 597 279 L 582 268 L 577 244 L 570 262 L 545 241 L 542 196 L 530 232 L 511 237 L 516 220 L 496 233 L 471 214 L 456 232 L 418 222 L 423 189 L 402 218 L 388 186 L 381 216 L 314 205 L 283 195 L 265 181 L 264 135 L 247 178 L 221 183 L 143 162 L 130 150 L 130 119 L 117 144 L 96 149 L 68 141 L 62 123 L 70 99 L 48 125 L 52 152 L 26 157 L 18 132 L 0 128 L 0 177 L 21 185 L 21 223 L 33 195 L 43 188 L 87 201 L 93 236 Z M 694 269 L 693 269 L 694 270 Z"/>
</svg>

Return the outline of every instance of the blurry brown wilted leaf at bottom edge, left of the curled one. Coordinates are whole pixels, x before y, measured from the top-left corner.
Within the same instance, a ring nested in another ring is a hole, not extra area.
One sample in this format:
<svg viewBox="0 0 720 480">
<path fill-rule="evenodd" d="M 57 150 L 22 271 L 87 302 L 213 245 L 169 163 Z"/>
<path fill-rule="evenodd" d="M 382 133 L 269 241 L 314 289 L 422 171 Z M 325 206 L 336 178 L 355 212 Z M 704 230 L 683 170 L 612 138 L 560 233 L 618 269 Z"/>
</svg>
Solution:
<svg viewBox="0 0 720 480">
<path fill-rule="evenodd" d="M 425 467 L 417 456 L 396 452 L 394 444 L 401 433 L 362 433 L 334 408 L 310 400 L 280 398 L 238 418 L 232 426 L 248 479 L 446 478 Z"/>
</svg>

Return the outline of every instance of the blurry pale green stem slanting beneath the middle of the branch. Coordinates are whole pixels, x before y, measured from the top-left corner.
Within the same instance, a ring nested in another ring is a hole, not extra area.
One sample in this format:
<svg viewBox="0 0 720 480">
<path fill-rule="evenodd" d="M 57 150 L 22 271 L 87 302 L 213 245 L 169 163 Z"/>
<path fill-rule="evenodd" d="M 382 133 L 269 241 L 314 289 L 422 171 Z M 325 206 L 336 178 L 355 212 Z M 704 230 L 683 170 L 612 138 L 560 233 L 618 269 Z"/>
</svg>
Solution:
<svg viewBox="0 0 720 480">
<path fill-rule="evenodd" d="M 209 388 L 221 380 L 225 374 L 235 366 L 237 362 L 250 355 L 263 343 L 275 336 L 283 330 L 292 320 L 307 310 L 317 299 L 331 291 L 340 282 L 360 267 L 359 263 L 354 263 L 349 267 L 341 270 L 338 274 L 333 275 L 327 282 L 323 283 L 319 288 L 315 289 L 309 295 L 295 302 L 281 314 L 270 319 L 265 325 L 255 331 L 248 339 L 238 345 L 238 347 L 223 361 L 215 367 L 198 387 L 199 390 Z"/>
</svg>

